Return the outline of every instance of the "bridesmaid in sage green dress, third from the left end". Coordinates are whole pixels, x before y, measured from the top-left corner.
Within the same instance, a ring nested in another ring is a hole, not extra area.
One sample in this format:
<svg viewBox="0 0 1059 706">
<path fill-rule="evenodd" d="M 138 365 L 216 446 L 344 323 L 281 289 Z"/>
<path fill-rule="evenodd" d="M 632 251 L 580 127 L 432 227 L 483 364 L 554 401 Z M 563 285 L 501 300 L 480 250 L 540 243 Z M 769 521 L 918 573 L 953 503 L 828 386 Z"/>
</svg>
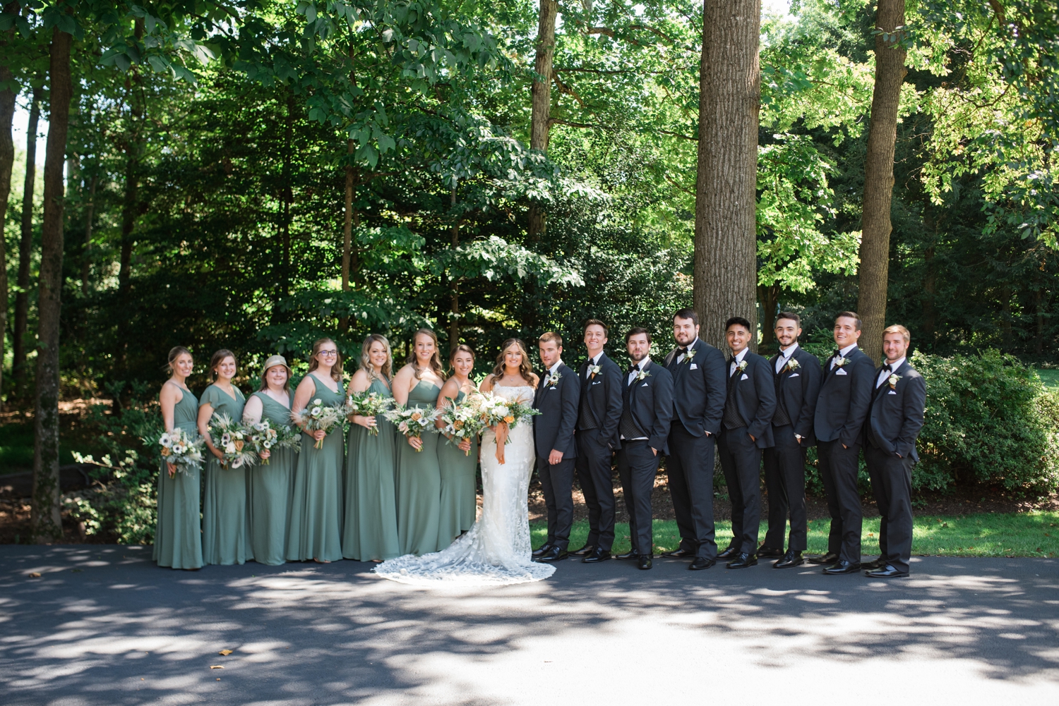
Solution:
<svg viewBox="0 0 1059 706">
<path fill-rule="evenodd" d="M 243 421 L 256 424 L 267 419 L 272 429 L 290 427 L 289 383 L 290 368 L 283 356 L 272 356 L 265 361 L 261 390 L 247 400 Z M 277 566 L 287 559 L 297 465 L 297 451 L 273 448 L 263 451 L 257 465 L 247 469 L 250 548 L 254 561 L 259 564 Z"/>
</svg>

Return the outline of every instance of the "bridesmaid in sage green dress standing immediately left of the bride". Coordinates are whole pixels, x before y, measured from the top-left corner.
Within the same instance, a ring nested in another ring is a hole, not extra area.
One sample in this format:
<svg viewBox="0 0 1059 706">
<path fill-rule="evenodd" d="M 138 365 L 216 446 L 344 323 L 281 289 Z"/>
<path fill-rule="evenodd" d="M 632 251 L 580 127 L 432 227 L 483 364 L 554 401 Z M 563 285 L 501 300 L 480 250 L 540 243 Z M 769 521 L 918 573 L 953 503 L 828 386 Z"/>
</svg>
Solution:
<svg viewBox="0 0 1059 706">
<path fill-rule="evenodd" d="M 452 377 L 442 386 L 437 396 L 437 406 L 448 406 L 474 392 L 470 374 L 474 369 L 474 351 L 470 346 L 460 344 L 449 355 Z M 444 424 L 437 421 L 437 428 Z M 444 433 L 443 433 L 444 434 Z M 437 466 L 442 472 L 442 505 L 437 538 L 439 544 L 447 544 L 474 524 L 478 513 L 477 476 L 478 437 L 463 439 L 460 445 L 446 438 L 437 440 Z"/>
</svg>

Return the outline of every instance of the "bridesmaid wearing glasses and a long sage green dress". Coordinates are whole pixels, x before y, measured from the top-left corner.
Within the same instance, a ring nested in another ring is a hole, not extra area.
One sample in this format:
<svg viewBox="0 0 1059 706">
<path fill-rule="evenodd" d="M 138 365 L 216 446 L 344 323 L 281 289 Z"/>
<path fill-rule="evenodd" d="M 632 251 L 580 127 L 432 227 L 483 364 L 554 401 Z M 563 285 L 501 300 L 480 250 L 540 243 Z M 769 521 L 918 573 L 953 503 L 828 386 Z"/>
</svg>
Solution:
<svg viewBox="0 0 1059 706">
<path fill-rule="evenodd" d="M 342 390 L 342 357 L 330 339 L 312 344 L 309 374 L 294 391 L 292 412 L 301 412 L 310 402 L 325 405 L 345 402 Z M 302 452 L 294 471 L 294 494 L 290 507 L 290 537 L 287 560 L 321 563 L 342 558 L 342 468 L 345 440 L 342 426 L 329 433 L 302 433 Z M 316 448 L 323 439 L 323 446 Z"/>
</svg>

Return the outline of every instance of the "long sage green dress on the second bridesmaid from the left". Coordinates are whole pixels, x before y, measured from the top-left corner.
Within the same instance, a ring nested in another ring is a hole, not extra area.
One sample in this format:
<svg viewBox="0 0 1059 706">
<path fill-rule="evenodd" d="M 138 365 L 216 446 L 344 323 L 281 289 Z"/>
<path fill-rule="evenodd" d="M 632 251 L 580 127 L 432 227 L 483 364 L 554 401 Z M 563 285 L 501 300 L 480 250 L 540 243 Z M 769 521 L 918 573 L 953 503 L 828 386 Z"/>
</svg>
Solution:
<svg viewBox="0 0 1059 706">
<path fill-rule="evenodd" d="M 227 414 L 235 421 L 243 419 L 247 399 L 232 386 L 232 397 L 217 385 L 202 393 L 199 406 L 213 405 L 214 414 Z M 215 441 L 216 445 L 216 441 Z M 250 523 L 247 518 L 247 471 L 243 468 L 221 468 L 220 460 L 209 448 L 205 465 L 205 495 L 202 499 L 202 561 L 207 564 L 241 564 L 253 559 L 250 550 Z"/>
</svg>

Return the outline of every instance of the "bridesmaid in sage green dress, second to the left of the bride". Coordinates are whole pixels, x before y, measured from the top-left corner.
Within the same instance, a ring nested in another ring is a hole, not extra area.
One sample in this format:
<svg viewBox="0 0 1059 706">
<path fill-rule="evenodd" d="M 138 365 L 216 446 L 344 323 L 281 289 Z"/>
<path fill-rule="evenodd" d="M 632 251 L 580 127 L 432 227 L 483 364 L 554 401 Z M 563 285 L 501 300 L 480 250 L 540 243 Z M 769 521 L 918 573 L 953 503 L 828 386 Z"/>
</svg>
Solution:
<svg viewBox="0 0 1059 706">
<path fill-rule="evenodd" d="M 394 377 L 397 404 L 433 410 L 445 384 L 437 337 L 420 328 L 412 339 L 408 364 Z M 397 438 L 397 535 L 401 554 L 428 554 L 444 549 L 451 539 L 439 538 L 442 472 L 437 467 L 435 430 L 423 436 Z"/>
</svg>

